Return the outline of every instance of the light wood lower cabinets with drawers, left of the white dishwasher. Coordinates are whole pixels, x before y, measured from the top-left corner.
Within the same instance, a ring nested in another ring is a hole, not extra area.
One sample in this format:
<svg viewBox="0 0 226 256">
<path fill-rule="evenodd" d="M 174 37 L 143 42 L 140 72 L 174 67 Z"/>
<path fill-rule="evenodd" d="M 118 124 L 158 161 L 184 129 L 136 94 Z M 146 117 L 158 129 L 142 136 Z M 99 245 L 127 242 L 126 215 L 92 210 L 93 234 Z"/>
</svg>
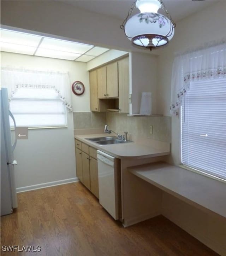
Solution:
<svg viewBox="0 0 226 256">
<path fill-rule="evenodd" d="M 84 152 L 85 151 L 85 152 Z M 99 198 L 96 149 L 75 140 L 76 173 L 78 179 Z"/>
</svg>

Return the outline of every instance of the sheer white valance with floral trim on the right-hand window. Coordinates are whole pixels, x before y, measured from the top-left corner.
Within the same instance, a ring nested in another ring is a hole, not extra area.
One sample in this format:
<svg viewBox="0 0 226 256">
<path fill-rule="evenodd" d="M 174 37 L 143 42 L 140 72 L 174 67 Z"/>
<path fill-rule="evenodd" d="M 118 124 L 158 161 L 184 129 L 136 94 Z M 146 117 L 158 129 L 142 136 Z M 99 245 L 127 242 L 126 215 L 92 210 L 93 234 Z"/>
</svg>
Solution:
<svg viewBox="0 0 226 256">
<path fill-rule="evenodd" d="M 171 80 L 171 115 L 178 115 L 190 82 L 226 78 L 226 43 L 175 57 Z"/>
</svg>

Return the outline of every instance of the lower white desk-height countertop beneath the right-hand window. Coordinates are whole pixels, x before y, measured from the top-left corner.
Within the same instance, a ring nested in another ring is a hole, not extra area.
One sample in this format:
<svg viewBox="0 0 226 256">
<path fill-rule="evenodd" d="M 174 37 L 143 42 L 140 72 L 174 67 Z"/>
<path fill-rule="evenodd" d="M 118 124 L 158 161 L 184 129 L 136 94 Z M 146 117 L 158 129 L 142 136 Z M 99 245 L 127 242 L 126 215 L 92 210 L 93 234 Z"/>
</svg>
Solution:
<svg viewBox="0 0 226 256">
<path fill-rule="evenodd" d="M 194 202 L 226 217 L 226 184 L 223 182 L 163 162 L 134 166 L 128 170 L 185 202 Z"/>
</svg>

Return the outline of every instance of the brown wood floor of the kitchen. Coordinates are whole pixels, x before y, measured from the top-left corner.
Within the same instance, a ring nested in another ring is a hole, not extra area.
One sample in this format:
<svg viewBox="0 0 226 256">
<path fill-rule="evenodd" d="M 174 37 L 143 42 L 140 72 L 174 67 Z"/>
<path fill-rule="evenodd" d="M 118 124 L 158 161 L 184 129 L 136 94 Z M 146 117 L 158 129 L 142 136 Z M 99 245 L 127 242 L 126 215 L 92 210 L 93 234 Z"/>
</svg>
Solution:
<svg viewBox="0 0 226 256">
<path fill-rule="evenodd" d="M 1 251 L 9 256 L 218 255 L 163 216 L 124 228 L 79 182 L 19 193 L 17 211 L 1 217 L 2 245 L 41 246 Z"/>
</svg>

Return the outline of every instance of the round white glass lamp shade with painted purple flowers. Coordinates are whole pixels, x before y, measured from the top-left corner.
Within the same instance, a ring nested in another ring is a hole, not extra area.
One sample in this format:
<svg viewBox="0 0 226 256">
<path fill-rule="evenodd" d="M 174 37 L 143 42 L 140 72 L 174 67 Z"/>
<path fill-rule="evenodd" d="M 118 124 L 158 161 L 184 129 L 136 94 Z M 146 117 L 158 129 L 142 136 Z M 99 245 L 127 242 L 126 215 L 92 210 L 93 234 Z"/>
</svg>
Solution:
<svg viewBox="0 0 226 256">
<path fill-rule="evenodd" d="M 139 13 L 125 24 L 125 34 L 135 45 L 154 48 L 168 43 L 174 35 L 172 22 L 162 14 Z"/>
</svg>

